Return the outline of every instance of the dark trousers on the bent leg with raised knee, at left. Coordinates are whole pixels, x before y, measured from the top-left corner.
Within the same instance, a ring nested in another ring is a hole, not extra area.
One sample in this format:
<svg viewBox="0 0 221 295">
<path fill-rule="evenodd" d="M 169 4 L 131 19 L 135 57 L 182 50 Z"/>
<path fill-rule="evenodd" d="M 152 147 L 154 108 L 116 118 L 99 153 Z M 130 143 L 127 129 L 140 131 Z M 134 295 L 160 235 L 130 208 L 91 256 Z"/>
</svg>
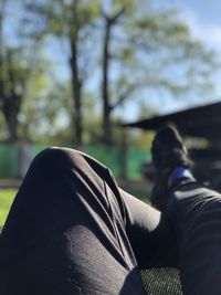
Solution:
<svg viewBox="0 0 221 295">
<path fill-rule="evenodd" d="M 50 148 L 30 166 L 0 235 L 0 294 L 145 294 L 139 270 L 173 264 L 173 245 L 169 222 L 106 167 Z"/>
</svg>

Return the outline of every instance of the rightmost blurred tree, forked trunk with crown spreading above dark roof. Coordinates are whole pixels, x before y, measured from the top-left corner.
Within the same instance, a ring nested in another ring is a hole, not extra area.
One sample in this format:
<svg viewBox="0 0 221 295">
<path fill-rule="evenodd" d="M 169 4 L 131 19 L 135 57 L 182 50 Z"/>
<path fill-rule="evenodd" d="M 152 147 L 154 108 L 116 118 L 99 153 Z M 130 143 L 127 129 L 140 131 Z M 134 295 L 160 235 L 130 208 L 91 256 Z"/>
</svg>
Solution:
<svg viewBox="0 0 221 295">
<path fill-rule="evenodd" d="M 112 114 L 129 97 L 187 98 L 196 92 L 202 97 L 211 89 L 217 63 L 214 53 L 192 39 L 173 8 L 158 1 L 110 2 L 102 13 L 103 139 L 107 144 L 113 141 Z"/>
</svg>

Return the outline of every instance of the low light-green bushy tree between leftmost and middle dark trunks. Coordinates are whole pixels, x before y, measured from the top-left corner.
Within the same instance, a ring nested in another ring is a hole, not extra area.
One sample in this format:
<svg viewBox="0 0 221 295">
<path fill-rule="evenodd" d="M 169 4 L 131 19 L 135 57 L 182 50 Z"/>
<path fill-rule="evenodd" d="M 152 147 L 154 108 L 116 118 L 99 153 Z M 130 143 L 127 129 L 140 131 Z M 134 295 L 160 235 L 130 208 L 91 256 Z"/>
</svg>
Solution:
<svg viewBox="0 0 221 295">
<path fill-rule="evenodd" d="M 20 137 L 34 144 L 73 144 L 70 128 L 73 106 L 66 99 L 70 89 L 62 83 L 56 83 L 54 87 L 51 78 L 40 74 L 32 75 L 22 104 Z"/>
</svg>

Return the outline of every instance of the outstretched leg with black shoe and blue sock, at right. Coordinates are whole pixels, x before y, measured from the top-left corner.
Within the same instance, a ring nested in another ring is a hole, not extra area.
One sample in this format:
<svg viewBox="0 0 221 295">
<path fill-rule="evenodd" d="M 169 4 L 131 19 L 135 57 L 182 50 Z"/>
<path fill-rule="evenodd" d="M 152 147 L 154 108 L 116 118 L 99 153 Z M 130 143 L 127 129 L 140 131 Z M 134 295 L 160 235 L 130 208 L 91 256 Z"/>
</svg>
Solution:
<svg viewBox="0 0 221 295">
<path fill-rule="evenodd" d="M 155 166 L 158 173 L 161 173 L 152 199 L 166 213 L 177 234 L 183 294 L 219 295 L 221 196 L 198 183 L 187 171 L 186 149 L 180 136 L 170 126 L 156 135 L 152 154 L 154 160 L 157 158 Z"/>
</svg>

